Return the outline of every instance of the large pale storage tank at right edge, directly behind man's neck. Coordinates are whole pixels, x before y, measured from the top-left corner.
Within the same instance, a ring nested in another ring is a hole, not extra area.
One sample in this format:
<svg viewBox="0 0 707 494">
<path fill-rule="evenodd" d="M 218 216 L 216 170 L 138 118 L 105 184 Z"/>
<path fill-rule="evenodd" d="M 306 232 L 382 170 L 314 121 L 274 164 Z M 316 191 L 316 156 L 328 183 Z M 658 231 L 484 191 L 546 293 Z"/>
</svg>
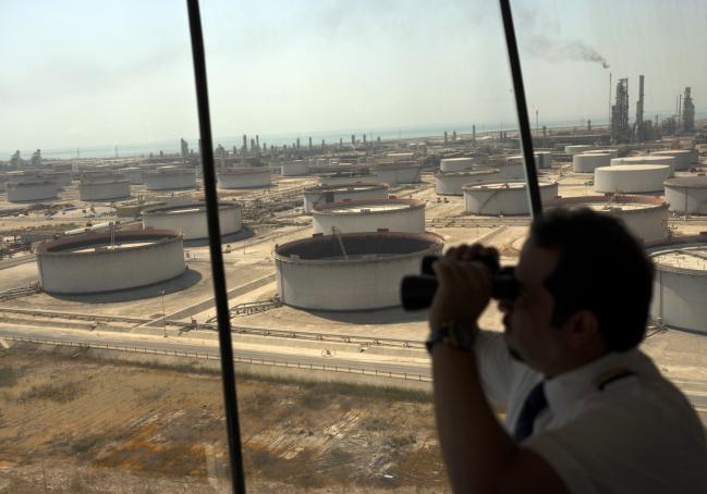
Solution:
<svg viewBox="0 0 707 494">
<path fill-rule="evenodd" d="M 656 267 L 650 316 L 668 328 L 707 333 L 707 235 L 647 250 Z"/>
</svg>

